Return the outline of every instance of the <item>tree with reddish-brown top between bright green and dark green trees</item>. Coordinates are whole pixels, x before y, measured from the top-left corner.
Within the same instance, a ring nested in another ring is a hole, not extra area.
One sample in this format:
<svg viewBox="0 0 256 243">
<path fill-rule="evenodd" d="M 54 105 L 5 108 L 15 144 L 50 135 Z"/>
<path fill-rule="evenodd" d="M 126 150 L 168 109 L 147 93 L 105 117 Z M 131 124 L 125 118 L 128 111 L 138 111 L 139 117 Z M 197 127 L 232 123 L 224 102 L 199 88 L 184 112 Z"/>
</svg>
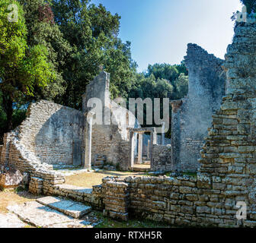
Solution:
<svg viewBox="0 0 256 243">
<path fill-rule="evenodd" d="M 68 41 L 63 38 L 58 25 L 54 21 L 51 1 L 19 0 L 24 8 L 24 17 L 27 26 L 27 45 L 46 46 L 47 60 L 52 65 L 56 77 L 46 87 L 34 90 L 34 99 L 47 99 L 60 102 L 65 93 L 66 80 L 62 77 L 66 57 L 72 51 Z"/>
</svg>

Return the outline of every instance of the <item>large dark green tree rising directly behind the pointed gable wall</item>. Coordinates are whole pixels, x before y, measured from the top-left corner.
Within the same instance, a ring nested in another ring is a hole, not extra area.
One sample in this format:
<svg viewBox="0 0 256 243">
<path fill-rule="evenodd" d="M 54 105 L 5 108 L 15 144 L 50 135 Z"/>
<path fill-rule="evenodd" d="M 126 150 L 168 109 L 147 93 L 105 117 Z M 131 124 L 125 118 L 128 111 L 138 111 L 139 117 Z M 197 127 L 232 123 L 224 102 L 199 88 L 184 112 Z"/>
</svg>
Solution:
<svg viewBox="0 0 256 243">
<path fill-rule="evenodd" d="M 99 65 L 110 73 L 112 98 L 127 97 L 136 81 L 136 63 L 131 58 L 130 43 L 122 43 L 117 37 L 120 16 L 87 0 L 53 0 L 53 12 L 56 24 L 72 46 L 62 69 L 66 80 L 62 104 L 82 108 L 82 93 L 99 73 Z"/>
</svg>

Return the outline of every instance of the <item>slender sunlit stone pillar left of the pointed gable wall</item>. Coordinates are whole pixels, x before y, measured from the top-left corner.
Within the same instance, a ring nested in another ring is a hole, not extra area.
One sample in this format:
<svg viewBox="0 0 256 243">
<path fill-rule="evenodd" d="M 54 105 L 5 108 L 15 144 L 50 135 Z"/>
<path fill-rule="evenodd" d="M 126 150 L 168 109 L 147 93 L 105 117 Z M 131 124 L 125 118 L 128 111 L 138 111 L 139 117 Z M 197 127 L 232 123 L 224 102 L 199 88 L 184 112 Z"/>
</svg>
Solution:
<svg viewBox="0 0 256 243">
<path fill-rule="evenodd" d="M 92 119 L 94 117 L 94 112 L 88 112 L 86 119 L 87 134 L 85 137 L 85 169 L 91 169 L 91 131 L 92 131 Z"/>
</svg>

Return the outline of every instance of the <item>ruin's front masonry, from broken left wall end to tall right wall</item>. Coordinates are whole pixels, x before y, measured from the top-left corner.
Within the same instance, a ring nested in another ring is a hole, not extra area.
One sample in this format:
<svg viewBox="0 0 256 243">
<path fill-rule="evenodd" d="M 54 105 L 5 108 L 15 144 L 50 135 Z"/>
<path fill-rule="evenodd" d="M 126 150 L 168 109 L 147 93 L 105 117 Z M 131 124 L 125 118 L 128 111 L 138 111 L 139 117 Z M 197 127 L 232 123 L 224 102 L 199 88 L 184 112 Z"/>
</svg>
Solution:
<svg viewBox="0 0 256 243">
<path fill-rule="evenodd" d="M 205 137 L 197 177 L 104 178 L 102 185 L 94 186 L 92 190 L 63 185 L 65 178 L 52 170 L 53 165 L 41 163 L 39 156 L 32 153 L 36 150 L 35 138 L 40 126 L 37 126 L 38 122 L 30 122 L 34 118 L 42 119 L 33 113 L 36 109 L 30 109 L 30 115 L 19 128 L 5 134 L 1 163 L 29 172 L 30 191 L 34 193 L 56 194 L 88 202 L 113 218 L 126 220 L 135 215 L 174 225 L 255 227 L 256 24 L 236 24 L 224 68 L 226 96 L 214 113 Z M 47 102 L 33 106 L 56 107 Z M 59 109 L 65 108 L 58 106 L 54 114 Z M 75 111 L 70 109 L 70 112 Z M 37 132 L 34 131 L 32 136 L 25 129 L 27 127 Z M 24 137 L 29 140 L 27 144 Z M 51 155 L 54 154 L 52 151 Z M 235 217 L 238 201 L 247 204 L 246 220 Z"/>
</svg>

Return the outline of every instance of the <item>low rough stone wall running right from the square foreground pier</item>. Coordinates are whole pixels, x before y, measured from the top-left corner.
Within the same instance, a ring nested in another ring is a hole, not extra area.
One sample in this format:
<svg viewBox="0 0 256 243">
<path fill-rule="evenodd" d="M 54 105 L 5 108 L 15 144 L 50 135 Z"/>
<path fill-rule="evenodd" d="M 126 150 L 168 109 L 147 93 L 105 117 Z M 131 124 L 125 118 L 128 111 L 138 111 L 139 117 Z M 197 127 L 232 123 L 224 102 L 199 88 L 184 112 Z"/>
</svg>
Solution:
<svg viewBox="0 0 256 243">
<path fill-rule="evenodd" d="M 219 178 L 128 177 L 105 178 L 104 214 L 114 219 L 137 216 L 175 226 L 256 226 L 235 218 L 237 208 Z"/>
</svg>

